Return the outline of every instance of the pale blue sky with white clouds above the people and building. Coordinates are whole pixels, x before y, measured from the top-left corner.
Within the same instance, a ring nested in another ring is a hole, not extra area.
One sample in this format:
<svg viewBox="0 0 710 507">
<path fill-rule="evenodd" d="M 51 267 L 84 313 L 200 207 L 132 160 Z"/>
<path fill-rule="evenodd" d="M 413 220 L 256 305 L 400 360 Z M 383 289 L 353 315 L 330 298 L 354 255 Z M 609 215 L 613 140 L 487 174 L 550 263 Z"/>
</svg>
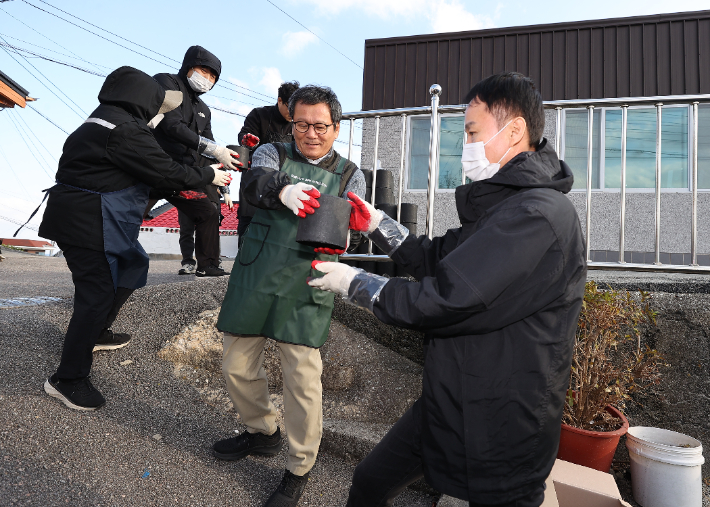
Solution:
<svg viewBox="0 0 710 507">
<path fill-rule="evenodd" d="M 708 7 L 707 0 L 0 0 L 0 70 L 38 99 L 0 110 L 0 238 L 11 237 L 18 227 L 11 221 L 24 222 L 41 202 L 66 132 L 98 106 L 101 75 L 122 65 L 174 73 L 192 45 L 217 55 L 220 82 L 203 99 L 238 113 L 212 111 L 216 140 L 237 144 L 239 115 L 274 104 L 282 81 L 330 86 L 343 111 L 359 111 L 367 39 Z M 344 125 L 335 145 L 344 154 L 348 132 Z M 357 147 L 353 159 L 359 162 Z M 37 234 L 23 229 L 18 237 Z"/>
</svg>

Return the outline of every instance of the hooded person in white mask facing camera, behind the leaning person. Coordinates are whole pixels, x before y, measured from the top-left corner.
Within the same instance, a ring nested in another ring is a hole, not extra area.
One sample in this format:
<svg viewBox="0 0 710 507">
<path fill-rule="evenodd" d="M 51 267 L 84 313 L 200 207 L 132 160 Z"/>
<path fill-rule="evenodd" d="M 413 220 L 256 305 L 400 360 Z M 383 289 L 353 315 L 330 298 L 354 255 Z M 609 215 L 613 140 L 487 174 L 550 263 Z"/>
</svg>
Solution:
<svg viewBox="0 0 710 507">
<path fill-rule="evenodd" d="M 242 164 L 232 150 L 214 142 L 210 108 L 200 98 L 219 80 L 222 63 L 201 46 L 185 52 L 177 74 L 156 74 L 155 79 L 166 90 L 177 90 L 185 97 L 180 107 L 165 115 L 155 129 L 155 138 L 173 160 L 180 164 L 207 166 L 214 159 L 235 170 Z M 244 162 L 246 167 L 246 162 Z M 228 192 L 228 188 L 223 191 Z M 158 195 L 178 209 L 181 250 L 192 250 L 192 231 L 195 231 L 194 250 L 197 266 L 191 257 L 183 258 L 180 274 L 222 276 L 229 273 L 219 267 L 219 193 L 214 185 L 193 188 L 178 195 Z M 185 220 L 187 218 L 187 220 Z M 183 230 L 184 229 L 184 230 Z M 185 256 L 184 256 L 185 257 Z"/>
</svg>

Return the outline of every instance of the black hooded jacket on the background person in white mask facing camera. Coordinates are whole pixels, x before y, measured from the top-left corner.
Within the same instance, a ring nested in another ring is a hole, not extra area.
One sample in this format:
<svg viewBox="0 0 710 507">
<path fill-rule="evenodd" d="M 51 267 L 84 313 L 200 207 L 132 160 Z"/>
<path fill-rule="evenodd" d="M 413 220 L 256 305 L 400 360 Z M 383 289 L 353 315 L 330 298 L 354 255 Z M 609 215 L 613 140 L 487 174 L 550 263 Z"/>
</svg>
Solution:
<svg viewBox="0 0 710 507">
<path fill-rule="evenodd" d="M 181 164 L 213 164 L 197 153 L 200 137 L 214 141 L 210 108 L 187 81 L 187 73 L 192 67 L 203 66 L 212 69 L 219 81 L 222 63 L 215 55 L 200 46 L 192 46 L 185 52 L 182 66 L 177 74 L 156 74 L 154 77 L 166 90 L 179 90 L 183 101 L 179 107 L 167 113 L 155 129 L 155 138 L 160 146 Z"/>
</svg>

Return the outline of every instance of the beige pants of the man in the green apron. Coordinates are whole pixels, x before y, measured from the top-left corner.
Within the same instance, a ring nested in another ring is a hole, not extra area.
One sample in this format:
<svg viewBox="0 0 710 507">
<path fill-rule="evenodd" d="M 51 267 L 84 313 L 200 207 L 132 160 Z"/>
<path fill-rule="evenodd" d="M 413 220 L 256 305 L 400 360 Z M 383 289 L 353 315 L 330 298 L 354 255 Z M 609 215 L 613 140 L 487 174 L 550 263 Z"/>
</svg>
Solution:
<svg viewBox="0 0 710 507">
<path fill-rule="evenodd" d="M 264 371 L 266 338 L 224 333 L 222 373 L 234 408 L 249 433 L 276 431 L 276 408 L 269 399 Z M 278 343 L 284 382 L 284 424 L 288 463 L 293 474 L 304 475 L 316 461 L 323 435 L 323 363 L 320 351 L 305 345 Z"/>
</svg>

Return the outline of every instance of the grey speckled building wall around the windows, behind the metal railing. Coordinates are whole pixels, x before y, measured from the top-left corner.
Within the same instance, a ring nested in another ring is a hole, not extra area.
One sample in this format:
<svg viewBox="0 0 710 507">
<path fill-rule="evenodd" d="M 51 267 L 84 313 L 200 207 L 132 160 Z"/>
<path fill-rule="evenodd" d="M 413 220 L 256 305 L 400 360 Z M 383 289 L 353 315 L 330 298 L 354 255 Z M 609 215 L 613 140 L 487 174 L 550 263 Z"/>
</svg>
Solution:
<svg viewBox="0 0 710 507">
<path fill-rule="evenodd" d="M 556 113 L 547 110 L 545 133 L 551 145 L 555 146 Z M 362 158 L 360 167 L 371 169 L 374 157 L 375 120 L 363 121 Z M 406 141 L 405 141 L 406 142 Z M 392 170 L 395 189 L 399 184 L 401 155 L 401 118 L 381 118 L 378 159 L 384 169 Z M 406 156 L 406 154 L 405 154 Z M 405 161 L 406 170 L 406 161 Z M 568 194 L 580 217 L 582 231 L 586 234 L 586 192 Z M 692 194 L 683 192 L 663 192 L 661 195 L 661 247 L 667 254 L 661 262 L 688 264 L 688 255 L 671 259 L 670 254 L 689 254 L 691 236 Z M 424 234 L 426 224 L 426 192 L 405 192 L 403 202 L 417 204 L 418 233 Z M 459 227 L 453 191 L 437 192 L 434 201 L 434 234 L 441 235 L 447 229 Z M 592 260 L 618 260 L 614 252 L 619 250 L 620 193 L 594 191 L 592 193 L 591 247 L 595 251 Z M 647 192 L 627 192 L 625 251 L 649 253 L 655 250 L 655 194 Z M 601 252 L 607 252 L 609 259 Z M 609 253 L 611 252 L 611 253 Z M 701 264 L 710 263 L 710 192 L 698 193 L 698 244 L 697 253 Z M 630 255 L 627 261 L 631 262 Z M 644 259 L 644 262 L 647 259 Z M 634 260 L 636 262 L 637 260 Z"/>
</svg>

